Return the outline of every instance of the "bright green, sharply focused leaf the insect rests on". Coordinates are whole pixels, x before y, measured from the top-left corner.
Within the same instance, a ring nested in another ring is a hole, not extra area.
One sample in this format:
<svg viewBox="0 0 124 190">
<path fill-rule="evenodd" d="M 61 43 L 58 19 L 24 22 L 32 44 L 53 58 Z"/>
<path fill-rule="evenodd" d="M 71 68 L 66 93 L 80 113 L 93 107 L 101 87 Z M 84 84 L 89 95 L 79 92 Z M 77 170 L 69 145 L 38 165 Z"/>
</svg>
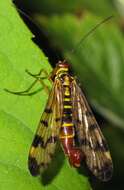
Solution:
<svg viewBox="0 0 124 190">
<path fill-rule="evenodd" d="M 42 51 L 32 42 L 33 35 L 22 22 L 10 0 L 0 3 L 0 189 L 1 190 L 89 190 L 87 177 L 64 161 L 62 153 L 55 161 L 54 173 L 34 178 L 27 169 L 33 134 L 43 112 L 48 94 L 43 89 L 34 96 L 16 96 L 4 91 L 23 91 L 34 79 L 25 70 L 38 73 L 51 67 Z M 49 85 L 46 79 L 45 83 Z M 32 91 L 41 87 L 40 84 Z M 56 159 L 56 156 L 55 156 Z M 58 161 L 62 164 L 57 165 Z M 52 165 L 52 164 L 51 164 Z M 49 180 L 49 175 L 51 179 Z M 45 181 L 45 185 L 44 182 Z"/>
</svg>

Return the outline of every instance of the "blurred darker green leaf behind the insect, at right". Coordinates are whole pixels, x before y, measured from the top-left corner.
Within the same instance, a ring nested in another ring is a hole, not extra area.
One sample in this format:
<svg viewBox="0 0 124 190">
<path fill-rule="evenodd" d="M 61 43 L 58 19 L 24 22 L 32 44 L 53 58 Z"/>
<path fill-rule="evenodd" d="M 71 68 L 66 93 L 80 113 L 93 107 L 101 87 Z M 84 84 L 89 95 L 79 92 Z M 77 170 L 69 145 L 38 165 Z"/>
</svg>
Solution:
<svg viewBox="0 0 124 190">
<path fill-rule="evenodd" d="M 115 125 L 124 128 L 124 39 L 113 20 L 77 44 L 102 18 L 66 14 L 36 19 L 46 26 L 52 43 L 70 60 L 95 108 Z M 70 51 L 76 50 L 73 54 Z"/>
</svg>

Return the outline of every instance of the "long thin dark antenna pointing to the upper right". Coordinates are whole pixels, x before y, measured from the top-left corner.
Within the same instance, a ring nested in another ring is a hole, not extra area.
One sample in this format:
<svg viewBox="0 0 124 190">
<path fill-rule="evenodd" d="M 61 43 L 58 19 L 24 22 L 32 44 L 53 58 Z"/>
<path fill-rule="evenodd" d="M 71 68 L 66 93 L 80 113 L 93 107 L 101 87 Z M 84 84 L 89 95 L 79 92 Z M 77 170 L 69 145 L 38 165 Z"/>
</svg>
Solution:
<svg viewBox="0 0 124 190">
<path fill-rule="evenodd" d="M 82 38 L 81 40 L 77 43 L 76 47 L 74 47 L 74 49 L 72 49 L 70 51 L 71 54 L 75 53 L 76 50 L 78 49 L 78 47 L 81 46 L 81 44 L 85 41 L 85 39 L 90 36 L 92 34 L 92 32 L 94 32 L 97 28 L 99 28 L 102 24 L 104 24 L 105 22 L 107 22 L 108 20 L 110 20 L 111 18 L 113 18 L 114 16 L 111 15 L 109 17 L 106 17 L 105 19 L 103 19 L 101 22 L 99 22 L 98 24 L 96 24 L 95 27 L 91 28 L 91 30 L 89 30 L 88 33 L 86 33 Z"/>
</svg>

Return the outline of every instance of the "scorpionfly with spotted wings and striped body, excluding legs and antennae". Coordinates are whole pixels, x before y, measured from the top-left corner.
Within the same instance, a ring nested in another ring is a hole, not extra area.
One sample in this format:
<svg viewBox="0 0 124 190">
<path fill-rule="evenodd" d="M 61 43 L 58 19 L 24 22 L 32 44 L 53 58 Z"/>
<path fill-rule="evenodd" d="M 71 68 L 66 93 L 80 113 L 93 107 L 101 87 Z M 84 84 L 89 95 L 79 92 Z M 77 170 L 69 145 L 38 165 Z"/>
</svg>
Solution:
<svg viewBox="0 0 124 190">
<path fill-rule="evenodd" d="M 108 145 L 84 94 L 69 74 L 69 64 L 59 61 L 50 79 L 53 87 L 29 151 L 30 173 L 36 176 L 47 168 L 60 141 L 71 166 L 80 167 L 85 159 L 97 178 L 109 180 L 113 166 Z"/>
</svg>

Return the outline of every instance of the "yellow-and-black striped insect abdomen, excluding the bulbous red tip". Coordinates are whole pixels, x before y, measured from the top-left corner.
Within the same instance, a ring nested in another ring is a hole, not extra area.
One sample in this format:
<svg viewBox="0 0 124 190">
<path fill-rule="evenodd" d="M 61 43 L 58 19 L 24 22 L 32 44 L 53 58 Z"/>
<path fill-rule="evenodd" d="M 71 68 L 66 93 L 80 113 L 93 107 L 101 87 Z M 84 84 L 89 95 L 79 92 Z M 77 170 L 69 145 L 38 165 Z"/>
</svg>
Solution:
<svg viewBox="0 0 124 190">
<path fill-rule="evenodd" d="M 65 154 L 69 154 L 69 150 L 74 146 L 75 135 L 72 122 L 71 82 L 69 76 L 65 76 L 63 81 L 63 114 L 60 139 Z"/>
</svg>

